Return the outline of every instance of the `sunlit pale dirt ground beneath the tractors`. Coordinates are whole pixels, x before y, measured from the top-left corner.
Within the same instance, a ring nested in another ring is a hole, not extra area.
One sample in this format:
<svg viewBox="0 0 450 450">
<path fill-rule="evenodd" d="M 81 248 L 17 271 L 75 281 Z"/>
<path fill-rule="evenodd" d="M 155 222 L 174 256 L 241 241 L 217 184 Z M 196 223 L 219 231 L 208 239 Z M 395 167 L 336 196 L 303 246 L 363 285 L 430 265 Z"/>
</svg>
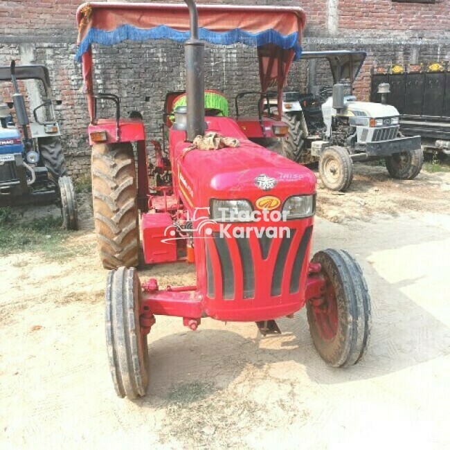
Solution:
<svg viewBox="0 0 450 450">
<path fill-rule="evenodd" d="M 64 253 L 0 256 L 0 446 L 64 448 L 449 448 L 450 173 L 388 179 L 357 165 L 350 192 L 318 190 L 314 249 L 350 251 L 372 296 L 366 358 L 329 368 L 305 311 L 280 336 L 253 323 L 158 317 L 150 388 L 116 397 L 89 197 Z M 32 208 L 24 211 L 33 215 Z M 55 213 L 48 209 L 47 213 Z M 192 284 L 192 267 L 140 271 Z"/>
</svg>

